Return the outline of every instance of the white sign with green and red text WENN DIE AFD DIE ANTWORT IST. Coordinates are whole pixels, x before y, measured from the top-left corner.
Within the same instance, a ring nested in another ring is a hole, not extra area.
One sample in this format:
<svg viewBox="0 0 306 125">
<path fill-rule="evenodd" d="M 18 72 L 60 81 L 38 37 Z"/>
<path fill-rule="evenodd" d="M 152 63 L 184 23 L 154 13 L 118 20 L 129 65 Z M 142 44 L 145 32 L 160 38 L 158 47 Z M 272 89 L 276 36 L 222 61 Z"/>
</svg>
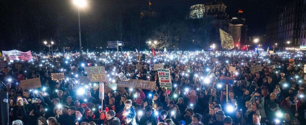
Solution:
<svg viewBox="0 0 306 125">
<path fill-rule="evenodd" d="M 169 69 L 157 69 L 160 87 L 172 88 L 170 70 Z"/>
</svg>

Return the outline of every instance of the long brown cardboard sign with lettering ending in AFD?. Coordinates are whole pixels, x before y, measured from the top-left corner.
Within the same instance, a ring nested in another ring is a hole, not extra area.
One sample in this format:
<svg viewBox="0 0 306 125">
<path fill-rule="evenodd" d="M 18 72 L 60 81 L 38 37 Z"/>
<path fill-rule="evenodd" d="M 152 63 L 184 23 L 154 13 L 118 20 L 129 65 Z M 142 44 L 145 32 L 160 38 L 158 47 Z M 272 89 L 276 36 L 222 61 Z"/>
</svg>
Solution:
<svg viewBox="0 0 306 125">
<path fill-rule="evenodd" d="M 127 88 L 141 88 L 141 89 L 154 90 L 156 83 L 146 80 L 130 79 L 128 81 L 119 81 L 118 86 L 127 87 Z"/>
</svg>

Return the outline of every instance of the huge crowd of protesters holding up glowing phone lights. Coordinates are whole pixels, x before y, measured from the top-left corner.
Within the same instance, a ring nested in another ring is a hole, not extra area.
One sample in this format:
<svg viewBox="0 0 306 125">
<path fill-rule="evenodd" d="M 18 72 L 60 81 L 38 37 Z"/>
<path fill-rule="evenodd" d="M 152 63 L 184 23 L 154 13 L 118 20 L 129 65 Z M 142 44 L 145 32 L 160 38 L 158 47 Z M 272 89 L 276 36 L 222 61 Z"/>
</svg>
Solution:
<svg viewBox="0 0 306 125">
<path fill-rule="evenodd" d="M 76 54 L 53 58 L 33 54 L 32 61 L 7 60 L 13 69 L 0 75 L 0 91 L 8 93 L 10 124 L 306 124 L 303 53 L 181 52 L 140 61 L 121 55 L 119 60 L 99 53 L 84 59 Z M 160 88 L 156 63 L 170 69 L 172 88 Z M 22 64 L 22 69 L 14 69 L 15 64 Z M 261 65 L 261 71 L 251 73 L 256 65 Z M 110 81 L 105 84 L 117 83 L 122 72 L 128 79 L 155 81 L 156 87 L 112 90 L 102 100 L 98 82 L 79 82 L 80 76 L 87 75 L 85 66 L 104 66 Z M 230 67 L 236 70 L 229 72 Z M 64 73 L 65 78 L 52 80 L 51 73 Z M 234 83 L 226 87 L 220 77 L 232 77 Z M 40 78 L 42 87 L 22 90 L 20 81 L 31 78 Z"/>
</svg>

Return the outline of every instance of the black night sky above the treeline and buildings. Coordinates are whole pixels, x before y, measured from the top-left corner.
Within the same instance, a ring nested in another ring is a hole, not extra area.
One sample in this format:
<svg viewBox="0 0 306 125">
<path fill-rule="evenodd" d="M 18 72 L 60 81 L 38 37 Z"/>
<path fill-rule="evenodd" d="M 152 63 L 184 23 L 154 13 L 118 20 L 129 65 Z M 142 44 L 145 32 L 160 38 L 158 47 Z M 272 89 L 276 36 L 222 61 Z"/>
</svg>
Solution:
<svg viewBox="0 0 306 125">
<path fill-rule="evenodd" d="M 230 18 L 237 16 L 238 8 L 243 10 L 239 17 L 246 19 L 249 28 L 247 36 L 265 35 L 268 20 L 281 12 L 286 3 L 284 0 L 216 1 L 225 3 L 227 6 L 225 11 Z M 88 1 L 88 6 L 80 11 L 82 37 L 90 37 L 92 33 L 111 23 L 111 19 L 116 20 L 118 15 L 122 17 L 139 15 L 142 10 L 148 10 L 148 2 L 148 0 Z M 151 0 L 152 10 L 160 14 L 161 20 L 170 15 L 173 20 L 183 20 L 190 6 L 209 2 L 215 0 Z M 2 45 L 0 49 L 2 50 L 17 48 L 12 44 L 20 42 L 21 39 L 23 42 L 31 42 L 18 44 L 19 46 L 42 47 L 44 40 L 50 41 L 50 37 L 56 39 L 59 32 L 65 36 L 78 38 L 77 8 L 70 0 L 2 0 L 0 4 L 2 5 L 0 8 Z"/>
</svg>

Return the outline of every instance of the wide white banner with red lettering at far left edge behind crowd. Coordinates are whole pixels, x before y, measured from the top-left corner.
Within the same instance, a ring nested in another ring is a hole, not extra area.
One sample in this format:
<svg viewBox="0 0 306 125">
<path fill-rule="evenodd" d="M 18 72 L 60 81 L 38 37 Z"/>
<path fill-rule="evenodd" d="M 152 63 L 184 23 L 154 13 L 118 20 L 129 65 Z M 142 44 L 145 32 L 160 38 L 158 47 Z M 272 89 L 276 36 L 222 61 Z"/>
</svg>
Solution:
<svg viewBox="0 0 306 125">
<path fill-rule="evenodd" d="M 19 50 L 11 50 L 11 51 L 2 51 L 2 56 L 5 58 L 9 58 L 9 60 L 31 60 L 32 53 L 31 50 L 28 52 L 21 52 Z"/>
</svg>

